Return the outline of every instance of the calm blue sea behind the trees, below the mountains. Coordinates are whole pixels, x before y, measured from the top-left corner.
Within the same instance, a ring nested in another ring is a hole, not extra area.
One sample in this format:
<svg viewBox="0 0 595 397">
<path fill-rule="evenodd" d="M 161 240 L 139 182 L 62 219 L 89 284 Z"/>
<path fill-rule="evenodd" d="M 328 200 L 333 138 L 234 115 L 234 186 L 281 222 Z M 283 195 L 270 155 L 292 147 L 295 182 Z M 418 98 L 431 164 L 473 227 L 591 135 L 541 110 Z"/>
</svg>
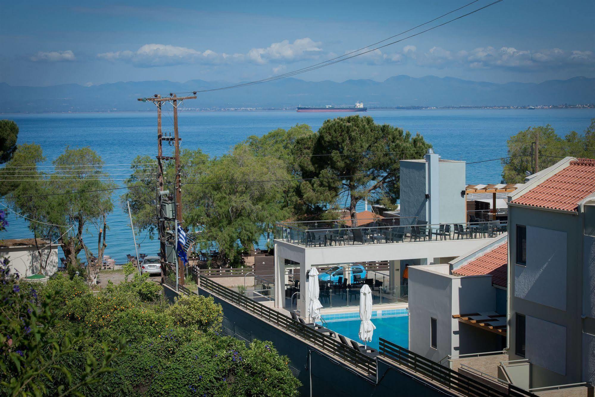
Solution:
<svg viewBox="0 0 595 397">
<path fill-rule="evenodd" d="M 595 110 L 396 110 L 369 111 L 376 123 L 388 123 L 412 133 L 421 133 L 444 159 L 467 162 L 488 160 L 506 155 L 506 140 L 530 126 L 551 124 L 559 135 L 575 130 L 582 133 L 595 118 Z M 309 124 L 317 130 L 322 121 L 336 117 L 331 113 L 297 113 L 295 111 L 262 112 L 181 112 L 180 136 L 183 148 L 201 148 L 209 155 L 221 155 L 250 135 L 263 135 L 277 128 Z M 130 163 L 137 155 L 156 154 L 155 113 L 97 114 L 4 114 L 18 123 L 18 143 L 35 142 L 42 146 L 48 164 L 64 151 L 65 146 L 90 146 L 106 164 Z M 172 132 L 171 114 L 164 112 L 164 132 Z M 165 146 L 165 151 L 171 151 Z M 167 155 L 167 153 L 165 153 Z M 114 166 L 109 168 L 127 168 Z M 126 174 L 127 170 L 113 171 Z M 499 183 L 502 166 L 499 161 L 469 164 L 467 183 Z M 123 179 L 126 175 L 114 176 Z M 118 182 L 121 183 L 121 182 Z M 117 200 L 121 190 L 116 190 Z M 363 204 L 362 204 L 363 205 Z M 116 210 L 108 216 L 106 254 L 117 263 L 134 254 L 128 214 Z M 10 226 L 2 238 L 30 237 L 27 223 L 12 214 Z M 91 229 L 93 229 L 91 227 Z M 95 230 L 89 230 L 87 245 L 96 244 Z M 158 243 L 144 233 L 137 236 L 141 253 L 155 254 Z M 95 246 L 96 250 L 96 246 Z"/>
</svg>

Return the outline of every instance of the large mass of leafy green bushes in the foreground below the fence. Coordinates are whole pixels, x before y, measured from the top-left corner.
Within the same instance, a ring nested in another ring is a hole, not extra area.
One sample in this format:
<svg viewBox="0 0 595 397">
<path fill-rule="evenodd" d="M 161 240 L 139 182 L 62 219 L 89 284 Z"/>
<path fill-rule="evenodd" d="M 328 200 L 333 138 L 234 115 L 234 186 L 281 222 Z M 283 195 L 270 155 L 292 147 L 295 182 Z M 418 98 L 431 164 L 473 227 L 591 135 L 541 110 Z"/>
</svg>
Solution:
<svg viewBox="0 0 595 397">
<path fill-rule="evenodd" d="M 58 368 L 48 370 L 52 382 L 40 381 L 46 389 L 42 394 L 59 394 L 57 385 L 81 383 L 77 391 L 83 395 L 106 397 L 297 395 L 300 383 L 287 357 L 270 342 L 246 346 L 220 335 L 223 312 L 212 297 L 181 296 L 170 304 L 160 289 L 139 274 L 95 293 L 81 277 L 57 275 L 39 285 L 38 293 L 48 302 L 60 302 L 52 307 L 49 337 L 77 330 L 82 335 L 70 354 L 58 357 Z M 104 348 L 120 338 L 123 345 Z M 98 363 L 110 359 L 93 382 L 83 382 L 88 356 Z"/>
</svg>

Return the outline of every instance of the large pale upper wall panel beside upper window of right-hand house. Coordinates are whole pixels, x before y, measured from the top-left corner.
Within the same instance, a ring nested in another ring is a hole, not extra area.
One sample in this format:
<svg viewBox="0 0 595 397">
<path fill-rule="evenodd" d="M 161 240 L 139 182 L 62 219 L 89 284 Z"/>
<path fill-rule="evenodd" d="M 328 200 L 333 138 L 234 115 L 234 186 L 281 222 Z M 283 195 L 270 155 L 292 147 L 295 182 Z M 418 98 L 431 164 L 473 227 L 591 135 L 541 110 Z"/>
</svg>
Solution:
<svg viewBox="0 0 595 397">
<path fill-rule="evenodd" d="M 527 226 L 527 265 L 515 264 L 515 297 L 566 310 L 566 232 Z"/>
</svg>

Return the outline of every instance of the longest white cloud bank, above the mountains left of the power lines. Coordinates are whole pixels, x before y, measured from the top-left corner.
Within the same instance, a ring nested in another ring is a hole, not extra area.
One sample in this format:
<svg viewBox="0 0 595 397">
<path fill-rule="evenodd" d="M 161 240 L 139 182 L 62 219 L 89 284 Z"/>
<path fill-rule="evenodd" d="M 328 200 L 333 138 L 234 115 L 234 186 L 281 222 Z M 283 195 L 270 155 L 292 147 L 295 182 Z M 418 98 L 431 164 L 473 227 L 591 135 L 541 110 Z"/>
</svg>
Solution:
<svg viewBox="0 0 595 397">
<path fill-rule="evenodd" d="M 316 58 L 322 52 L 320 45 L 320 42 L 314 42 L 309 37 L 305 37 L 297 39 L 293 43 L 283 40 L 280 43 L 273 43 L 267 48 L 252 48 L 246 54 L 218 54 L 210 49 L 198 51 L 173 45 L 145 44 L 136 51 L 104 52 L 97 54 L 97 57 L 108 61 L 127 61 L 139 67 L 231 62 L 267 64 L 271 61 L 294 62 Z"/>
</svg>

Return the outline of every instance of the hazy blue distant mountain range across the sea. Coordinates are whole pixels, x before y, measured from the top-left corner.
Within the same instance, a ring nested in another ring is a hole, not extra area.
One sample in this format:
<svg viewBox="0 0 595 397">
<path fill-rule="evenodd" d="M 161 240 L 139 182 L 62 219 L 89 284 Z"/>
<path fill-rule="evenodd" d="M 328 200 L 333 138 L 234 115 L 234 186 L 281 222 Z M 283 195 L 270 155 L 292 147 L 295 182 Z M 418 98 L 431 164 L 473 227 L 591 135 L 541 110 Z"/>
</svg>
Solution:
<svg viewBox="0 0 595 397">
<path fill-rule="evenodd" d="M 93 86 L 67 84 L 48 87 L 0 83 L 0 112 L 149 111 L 154 105 L 137 98 L 154 93 L 185 92 L 228 86 L 228 82 L 167 80 L 118 82 Z M 454 77 L 394 76 L 336 83 L 281 79 L 230 90 L 199 93 L 186 108 L 293 108 L 353 105 L 374 107 L 528 106 L 595 103 L 595 79 L 574 77 L 543 83 L 488 83 Z"/>
</svg>

